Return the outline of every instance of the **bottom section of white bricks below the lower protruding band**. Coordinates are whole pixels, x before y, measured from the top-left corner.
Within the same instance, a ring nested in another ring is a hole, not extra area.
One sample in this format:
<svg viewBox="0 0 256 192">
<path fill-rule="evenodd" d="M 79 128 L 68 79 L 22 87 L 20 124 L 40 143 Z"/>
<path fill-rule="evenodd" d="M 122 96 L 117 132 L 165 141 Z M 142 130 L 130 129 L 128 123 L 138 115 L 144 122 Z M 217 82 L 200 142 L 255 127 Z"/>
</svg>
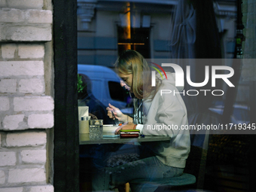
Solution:
<svg viewBox="0 0 256 192">
<path fill-rule="evenodd" d="M 0 136 L 4 136 L 1 148 L 5 150 L 0 151 L 0 192 L 53 191 L 46 183 L 46 132 L 7 132 Z"/>
</svg>

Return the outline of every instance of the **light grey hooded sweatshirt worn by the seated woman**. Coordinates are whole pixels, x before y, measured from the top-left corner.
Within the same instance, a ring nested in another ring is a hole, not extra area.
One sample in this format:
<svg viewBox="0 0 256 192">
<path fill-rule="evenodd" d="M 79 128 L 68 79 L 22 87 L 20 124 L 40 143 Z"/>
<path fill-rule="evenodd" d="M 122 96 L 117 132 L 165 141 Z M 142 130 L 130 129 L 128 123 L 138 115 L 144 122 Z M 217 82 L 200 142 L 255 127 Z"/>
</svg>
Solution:
<svg viewBox="0 0 256 192">
<path fill-rule="evenodd" d="M 162 80 L 154 99 L 144 100 L 143 124 L 138 124 L 136 129 L 145 136 L 169 136 L 167 142 L 142 145 L 150 148 L 167 166 L 184 168 L 190 152 L 190 133 L 187 129 L 187 109 L 179 93 L 183 87 L 175 87 L 174 74 L 166 75 L 167 79 Z"/>
</svg>

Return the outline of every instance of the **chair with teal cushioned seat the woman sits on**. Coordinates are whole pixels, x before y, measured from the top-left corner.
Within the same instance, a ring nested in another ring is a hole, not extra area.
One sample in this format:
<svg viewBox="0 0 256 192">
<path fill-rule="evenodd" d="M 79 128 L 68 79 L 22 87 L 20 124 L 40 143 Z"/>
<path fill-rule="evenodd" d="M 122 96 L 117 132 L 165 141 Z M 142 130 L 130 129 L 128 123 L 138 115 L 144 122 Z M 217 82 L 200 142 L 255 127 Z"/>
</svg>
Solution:
<svg viewBox="0 0 256 192">
<path fill-rule="evenodd" d="M 211 113 L 197 113 L 191 115 L 189 123 L 216 124 L 218 123 L 218 117 L 215 117 Z M 205 130 L 199 134 L 190 132 L 190 141 L 190 155 L 187 159 L 187 165 L 184 169 L 183 175 L 174 178 L 135 179 L 129 182 L 131 190 L 133 192 L 162 192 L 170 190 L 186 191 L 187 188 L 192 188 L 194 189 L 193 191 L 197 191 L 196 189 L 203 189 L 209 130 Z"/>
</svg>

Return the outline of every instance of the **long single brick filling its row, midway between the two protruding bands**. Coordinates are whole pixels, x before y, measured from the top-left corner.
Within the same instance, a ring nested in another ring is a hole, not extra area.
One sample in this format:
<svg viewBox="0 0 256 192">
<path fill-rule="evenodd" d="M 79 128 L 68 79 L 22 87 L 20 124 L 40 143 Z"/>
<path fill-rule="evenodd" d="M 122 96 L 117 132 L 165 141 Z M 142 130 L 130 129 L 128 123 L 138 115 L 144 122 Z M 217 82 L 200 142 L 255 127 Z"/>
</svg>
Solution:
<svg viewBox="0 0 256 192">
<path fill-rule="evenodd" d="M 0 62 L 0 77 L 20 75 L 44 75 L 44 62 L 42 61 L 6 61 Z"/>
</svg>

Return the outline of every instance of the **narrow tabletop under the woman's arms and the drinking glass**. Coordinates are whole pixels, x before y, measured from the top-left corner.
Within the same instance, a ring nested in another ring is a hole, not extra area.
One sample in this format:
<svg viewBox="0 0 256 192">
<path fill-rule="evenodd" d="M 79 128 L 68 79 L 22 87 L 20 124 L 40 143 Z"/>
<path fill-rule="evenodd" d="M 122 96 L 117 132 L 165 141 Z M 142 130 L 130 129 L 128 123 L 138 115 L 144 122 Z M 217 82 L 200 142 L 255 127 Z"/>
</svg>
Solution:
<svg viewBox="0 0 256 192">
<path fill-rule="evenodd" d="M 90 145 L 90 144 L 105 144 L 105 143 L 127 143 L 127 142 L 160 142 L 169 141 L 169 136 L 145 136 L 138 138 L 102 138 L 102 139 L 90 139 L 89 133 L 79 134 L 79 144 L 80 145 Z"/>
</svg>

